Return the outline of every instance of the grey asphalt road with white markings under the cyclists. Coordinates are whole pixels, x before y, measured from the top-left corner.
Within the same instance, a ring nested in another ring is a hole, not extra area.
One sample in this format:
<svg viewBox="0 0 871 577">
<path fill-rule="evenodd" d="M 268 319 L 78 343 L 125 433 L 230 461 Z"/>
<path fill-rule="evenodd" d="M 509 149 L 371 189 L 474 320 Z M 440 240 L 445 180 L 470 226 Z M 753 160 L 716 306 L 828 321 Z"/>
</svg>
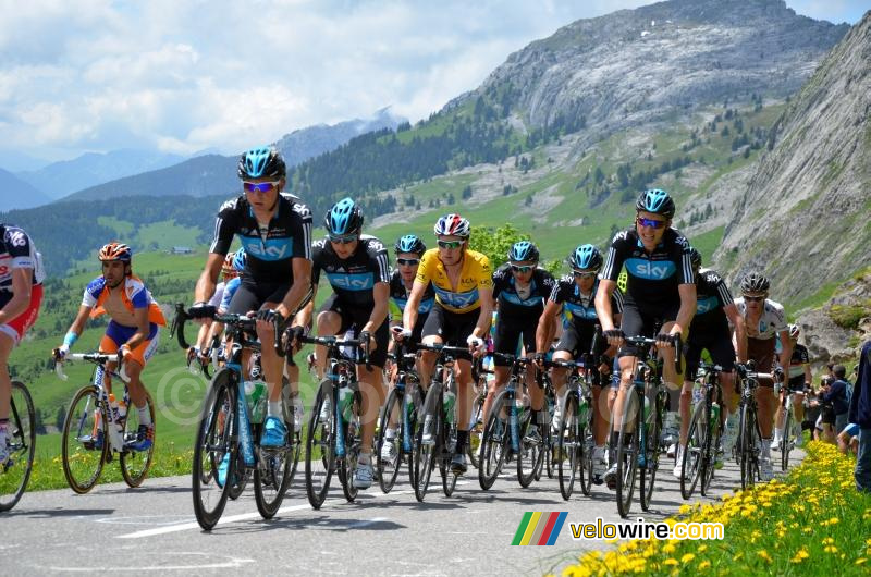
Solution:
<svg viewBox="0 0 871 577">
<path fill-rule="evenodd" d="M 802 457 L 793 452 L 794 464 Z M 641 514 L 636 489 L 633 513 L 646 520 L 670 516 L 684 503 L 671 470 L 661 474 L 649 513 Z M 727 463 L 714 478 L 713 499 L 737 487 L 738 478 L 734 462 Z M 599 516 L 621 521 L 614 494 L 604 486 L 593 486 L 589 498 L 577 492 L 563 501 L 555 479 L 522 489 L 505 476 L 482 491 L 470 468 L 449 499 L 438 480 L 422 504 L 404 474 L 390 494 L 376 486 L 355 503 L 346 502 L 334 482 L 324 506 L 314 511 L 298 474 L 272 520 L 260 518 L 249 484 L 211 533 L 194 518 L 188 477 L 149 479 L 139 489 L 99 486 L 86 495 L 26 493 L 0 515 L 2 573 L 541 575 L 571 563 L 585 548 L 610 547 L 574 541 L 569 523 Z M 511 547 L 527 511 L 568 512 L 555 545 Z"/>
</svg>

